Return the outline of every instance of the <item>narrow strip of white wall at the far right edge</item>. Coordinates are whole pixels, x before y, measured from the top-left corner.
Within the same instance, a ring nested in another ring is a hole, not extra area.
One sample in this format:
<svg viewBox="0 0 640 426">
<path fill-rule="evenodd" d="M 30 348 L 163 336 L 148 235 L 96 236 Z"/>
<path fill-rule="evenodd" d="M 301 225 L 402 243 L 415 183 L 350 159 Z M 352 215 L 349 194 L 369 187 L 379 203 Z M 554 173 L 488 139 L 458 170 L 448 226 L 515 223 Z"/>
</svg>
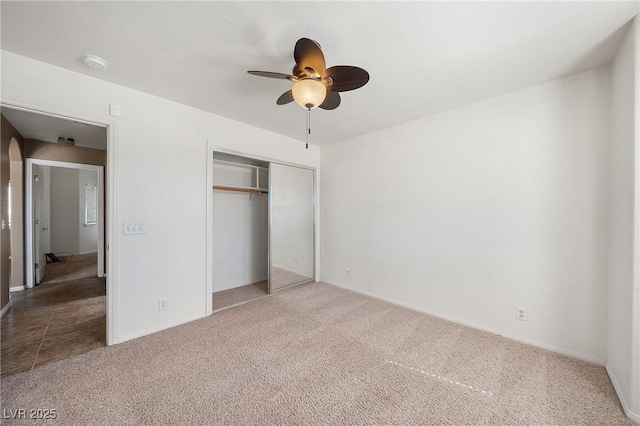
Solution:
<svg viewBox="0 0 640 426">
<path fill-rule="evenodd" d="M 612 197 L 607 371 L 625 409 L 640 421 L 638 253 L 638 18 L 611 66 Z M 635 152 L 634 152 L 635 151 Z M 635 271 L 634 271 L 635 269 Z M 634 274 L 636 274 L 634 276 Z"/>
</svg>

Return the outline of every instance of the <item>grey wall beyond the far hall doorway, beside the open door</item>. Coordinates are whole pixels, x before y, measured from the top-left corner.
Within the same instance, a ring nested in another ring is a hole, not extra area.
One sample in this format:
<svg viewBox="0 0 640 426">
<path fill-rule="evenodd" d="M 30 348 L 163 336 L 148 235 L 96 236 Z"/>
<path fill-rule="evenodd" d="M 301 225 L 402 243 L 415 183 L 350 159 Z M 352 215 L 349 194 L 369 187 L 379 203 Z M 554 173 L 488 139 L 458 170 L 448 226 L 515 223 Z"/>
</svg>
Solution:
<svg viewBox="0 0 640 426">
<path fill-rule="evenodd" d="M 78 170 L 47 166 L 45 168 L 50 170 L 51 251 L 79 254 Z"/>
</svg>

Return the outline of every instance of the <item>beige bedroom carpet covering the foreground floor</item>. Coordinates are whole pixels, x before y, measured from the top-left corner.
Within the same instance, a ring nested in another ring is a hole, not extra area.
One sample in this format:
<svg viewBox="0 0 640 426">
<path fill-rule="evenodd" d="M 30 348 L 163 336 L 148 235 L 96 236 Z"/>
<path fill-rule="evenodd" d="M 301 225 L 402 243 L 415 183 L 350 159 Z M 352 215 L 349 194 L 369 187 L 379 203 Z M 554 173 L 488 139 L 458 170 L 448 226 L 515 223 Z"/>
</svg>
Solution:
<svg viewBox="0 0 640 426">
<path fill-rule="evenodd" d="M 65 425 L 632 424 L 600 366 L 322 283 L 7 377 L 2 408 Z"/>
</svg>

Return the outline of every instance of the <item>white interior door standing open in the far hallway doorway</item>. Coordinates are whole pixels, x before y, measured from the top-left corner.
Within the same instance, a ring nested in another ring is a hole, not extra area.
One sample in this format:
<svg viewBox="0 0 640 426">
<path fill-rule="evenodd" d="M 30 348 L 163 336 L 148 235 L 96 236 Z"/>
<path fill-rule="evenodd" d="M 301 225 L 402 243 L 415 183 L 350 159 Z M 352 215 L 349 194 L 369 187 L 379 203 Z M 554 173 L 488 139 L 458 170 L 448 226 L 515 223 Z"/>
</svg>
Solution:
<svg viewBox="0 0 640 426">
<path fill-rule="evenodd" d="M 45 223 L 45 187 L 46 176 L 43 166 L 33 165 L 33 261 L 35 284 L 40 284 L 47 266 L 45 258 L 45 233 L 48 223 Z"/>
</svg>

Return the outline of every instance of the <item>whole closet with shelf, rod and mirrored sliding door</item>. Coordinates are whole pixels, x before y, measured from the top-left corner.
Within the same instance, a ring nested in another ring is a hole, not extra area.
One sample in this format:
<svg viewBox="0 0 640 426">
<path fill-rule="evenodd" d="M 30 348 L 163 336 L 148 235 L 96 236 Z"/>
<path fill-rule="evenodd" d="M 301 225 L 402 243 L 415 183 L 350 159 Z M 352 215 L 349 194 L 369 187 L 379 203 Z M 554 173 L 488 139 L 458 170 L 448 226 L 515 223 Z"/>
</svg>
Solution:
<svg viewBox="0 0 640 426">
<path fill-rule="evenodd" d="M 315 277 L 315 170 L 214 151 L 212 310 Z"/>
</svg>

